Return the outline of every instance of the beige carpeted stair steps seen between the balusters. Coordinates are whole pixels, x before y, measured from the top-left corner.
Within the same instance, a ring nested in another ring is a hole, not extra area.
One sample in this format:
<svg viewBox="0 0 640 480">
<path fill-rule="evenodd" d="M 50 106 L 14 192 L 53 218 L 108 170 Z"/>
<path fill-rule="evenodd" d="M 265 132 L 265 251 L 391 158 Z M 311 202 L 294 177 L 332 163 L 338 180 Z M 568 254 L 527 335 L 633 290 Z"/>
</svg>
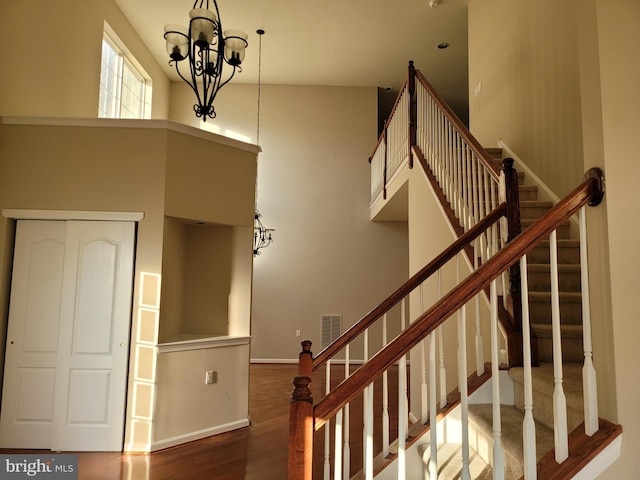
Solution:
<svg viewBox="0 0 640 480">
<path fill-rule="evenodd" d="M 502 151 L 487 151 L 501 165 Z M 538 187 L 525 185 L 524 175 L 518 176 L 520 216 L 525 231 L 553 206 L 538 200 Z M 580 294 L 580 244 L 570 238 L 570 223 L 556 232 L 558 239 L 558 285 L 563 357 L 563 386 L 567 397 L 568 430 L 573 431 L 584 421 L 582 394 L 582 304 Z M 543 241 L 527 255 L 529 308 L 531 330 L 537 337 L 539 366 L 532 369 L 533 418 L 536 425 L 536 459 L 540 460 L 554 448 L 553 416 L 553 342 L 551 329 L 551 267 L 549 241 Z M 524 371 L 509 369 L 514 386 L 514 404 L 501 406 L 502 446 L 505 452 L 505 478 L 521 478 L 523 469 L 522 418 L 524 416 Z M 473 450 L 487 465 L 492 464 L 492 405 L 472 404 L 469 408 L 469 428 L 475 439 Z M 488 471 L 488 470 L 484 470 Z M 483 471 L 483 472 L 484 472 Z M 443 476 L 445 480 L 448 477 Z M 453 478 L 453 477 L 451 477 Z"/>
</svg>

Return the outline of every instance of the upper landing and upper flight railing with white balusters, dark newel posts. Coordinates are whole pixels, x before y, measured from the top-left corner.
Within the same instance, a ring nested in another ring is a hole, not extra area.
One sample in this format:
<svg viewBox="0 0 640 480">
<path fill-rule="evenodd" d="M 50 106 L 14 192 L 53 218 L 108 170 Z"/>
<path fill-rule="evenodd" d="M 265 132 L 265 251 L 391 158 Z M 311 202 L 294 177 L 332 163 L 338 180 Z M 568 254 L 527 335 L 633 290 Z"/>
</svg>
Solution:
<svg viewBox="0 0 640 480">
<path fill-rule="evenodd" d="M 385 200 L 387 186 L 394 176 L 403 166 L 412 168 L 416 159 L 433 184 L 458 238 L 499 204 L 506 204 L 505 221 L 493 225 L 466 248 L 473 270 L 520 233 L 518 177 L 513 160 L 505 159 L 500 169 L 499 162 L 480 145 L 424 75 L 414 68 L 413 62 L 409 62 L 407 80 L 369 159 L 371 203 Z M 521 364 L 522 320 L 517 268 L 505 273 L 499 295 L 506 363 Z"/>
</svg>

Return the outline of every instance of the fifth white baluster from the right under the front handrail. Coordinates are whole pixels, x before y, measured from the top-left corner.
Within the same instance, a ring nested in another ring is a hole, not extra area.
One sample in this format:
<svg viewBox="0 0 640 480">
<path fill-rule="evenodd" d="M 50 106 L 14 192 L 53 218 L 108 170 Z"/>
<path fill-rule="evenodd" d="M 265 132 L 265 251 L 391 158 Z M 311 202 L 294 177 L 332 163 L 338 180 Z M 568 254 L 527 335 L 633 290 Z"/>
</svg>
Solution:
<svg viewBox="0 0 640 480">
<path fill-rule="evenodd" d="M 460 254 L 456 255 L 458 283 L 460 283 Z M 467 306 L 458 310 L 458 385 L 460 386 L 460 420 L 462 423 L 461 480 L 471 480 L 469 470 L 469 392 L 467 385 Z"/>
</svg>

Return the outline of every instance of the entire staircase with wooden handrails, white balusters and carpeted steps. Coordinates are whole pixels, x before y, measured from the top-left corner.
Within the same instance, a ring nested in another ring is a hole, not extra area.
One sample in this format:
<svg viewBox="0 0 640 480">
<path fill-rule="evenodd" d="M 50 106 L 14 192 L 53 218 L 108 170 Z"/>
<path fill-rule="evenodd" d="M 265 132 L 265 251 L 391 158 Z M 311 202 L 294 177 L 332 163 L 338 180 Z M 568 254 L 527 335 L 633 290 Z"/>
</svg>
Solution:
<svg viewBox="0 0 640 480">
<path fill-rule="evenodd" d="M 303 342 L 290 403 L 290 480 L 311 479 L 314 432 L 324 432 L 325 478 L 347 479 L 360 469 L 352 478 L 404 480 L 419 478 L 427 471 L 435 478 L 434 469 L 442 472 L 439 478 L 443 480 L 469 478 L 456 468 L 460 464 L 466 470 L 473 462 L 474 478 L 564 479 L 592 468 L 592 460 L 616 439 L 604 467 L 599 463 L 596 468 L 605 468 L 616 451 L 619 454 L 620 426 L 598 419 L 590 318 L 582 318 L 581 265 L 586 266 L 586 259 L 571 238 L 568 223 L 579 214 L 580 237 L 586 238 L 586 205 L 596 206 L 602 199 L 602 172 L 591 169 L 567 197 L 552 205 L 539 201 L 537 189 L 524 185 L 524 176 L 514 175 L 508 162 L 500 173 L 494 165 L 500 151 L 491 155 L 493 160 L 410 63 L 408 80 L 369 160 L 372 205 L 388 200 L 388 188 L 396 179 L 407 178 L 402 169 L 411 168 L 417 159 L 457 239 L 318 355 L 311 353 L 311 342 Z M 520 206 L 514 195 L 516 183 L 520 185 Z M 398 191 L 393 189 L 390 191 Z M 523 231 L 518 234 L 520 225 Z M 553 248 L 556 240 L 557 249 Z M 470 273 L 460 275 L 466 258 L 471 259 L 464 267 Z M 518 265 L 527 269 L 526 278 L 530 278 L 522 283 L 523 288 L 526 283 L 530 286 L 522 295 L 523 307 L 528 308 L 522 310 L 520 330 L 517 318 L 504 315 L 509 302 L 502 301 L 510 295 L 508 284 L 517 288 L 517 278 L 509 280 L 508 272 Z M 555 288 L 551 278 L 555 278 L 557 265 Z M 455 284 L 443 290 L 442 278 L 452 273 L 445 269 L 452 268 Z M 424 285 L 439 291 L 439 300 L 423 305 Z M 585 290 L 586 299 L 587 293 Z M 480 303 L 485 311 L 482 315 Z M 419 309 L 407 321 L 406 314 L 412 313 L 409 304 Z M 475 314 L 469 316 L 475 321 L 467 322 L 467 306 L 471 310 L 472 305 Z M 390 341 L 387 314 L 400 327 Z M 490 327 L 490 335 L 482 333 L 481 323 Z M 550 334 L 552 323 L 554 333 Z M 382 331 L 382 346 L 376 345 L 378 350 L 371 355 L 369 331 L 373 328 Z M 529 332 L 537 341 L 529 341 Z M 471 335 L 475 341 L 467 340 Z M 365 362 L 351 370 L 349 349 L 357 342 L 365 347 Z M 536 346 L 533 352 L 531 345 Z M 457 388 L 451 391 L 443 352 L 456 350 L 455 364 L 447 365 L 448 371 L 456 372 Z M 505 366 L 500 363 L 504 351 L 512 367 L 524 360 L 520 363 L 524 366 L 511 368 L 507 378 L 500 371 Z M 410 352 L 411 375 L 407 367 Z M 344 380 L 314 402 L 313 374 L 326 368 L 328 379 L 330 362 L 336 357 L 346 360 Z M 473 358 L 475 367 L 470 367 Z M 490 363 L 483 363 L 489 359 Z M 398 371 L 395 392 L 387 384 L 392 368 Z M 374 394 L 378 382 L 382 383 L 381 395 Z M 472 395 L 478 387 L 477 395 Z M 481 392 L 483 389 L 487 391 Z M 417 396 L 411 410 L 409 391 Z M 392 415 L 390 399 L 396 403 Z M 353 402 L 362 402 L 364 432 L 362 425 L 353 430 L 349 421 Z M 421 417 L 413 417 L 412 425 L 407 421 L 410 412 Z M 391 418 L 396 419 L 395 440 Z M 351 455 L 350 438 L 354 436 L 362 438 L 356 463 L 356 456 Z M 436 443 L 438 448 L 431 449 Z M 418 471 L 409 465 L 411 458 L 419 464 Z"/>
</svg>

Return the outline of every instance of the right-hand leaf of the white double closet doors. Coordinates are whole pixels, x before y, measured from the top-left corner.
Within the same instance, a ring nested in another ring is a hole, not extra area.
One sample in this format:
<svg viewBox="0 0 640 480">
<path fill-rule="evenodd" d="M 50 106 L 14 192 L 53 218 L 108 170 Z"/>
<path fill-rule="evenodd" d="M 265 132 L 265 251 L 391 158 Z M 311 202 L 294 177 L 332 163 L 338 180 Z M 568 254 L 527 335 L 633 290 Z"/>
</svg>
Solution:
<svg viewBox="0 0 640 480">
<path fill-rule="evenodd" d="M 68 222 L 54 450 L 122 449 L 133 239 L 131 222 Z"/>
</svg>

